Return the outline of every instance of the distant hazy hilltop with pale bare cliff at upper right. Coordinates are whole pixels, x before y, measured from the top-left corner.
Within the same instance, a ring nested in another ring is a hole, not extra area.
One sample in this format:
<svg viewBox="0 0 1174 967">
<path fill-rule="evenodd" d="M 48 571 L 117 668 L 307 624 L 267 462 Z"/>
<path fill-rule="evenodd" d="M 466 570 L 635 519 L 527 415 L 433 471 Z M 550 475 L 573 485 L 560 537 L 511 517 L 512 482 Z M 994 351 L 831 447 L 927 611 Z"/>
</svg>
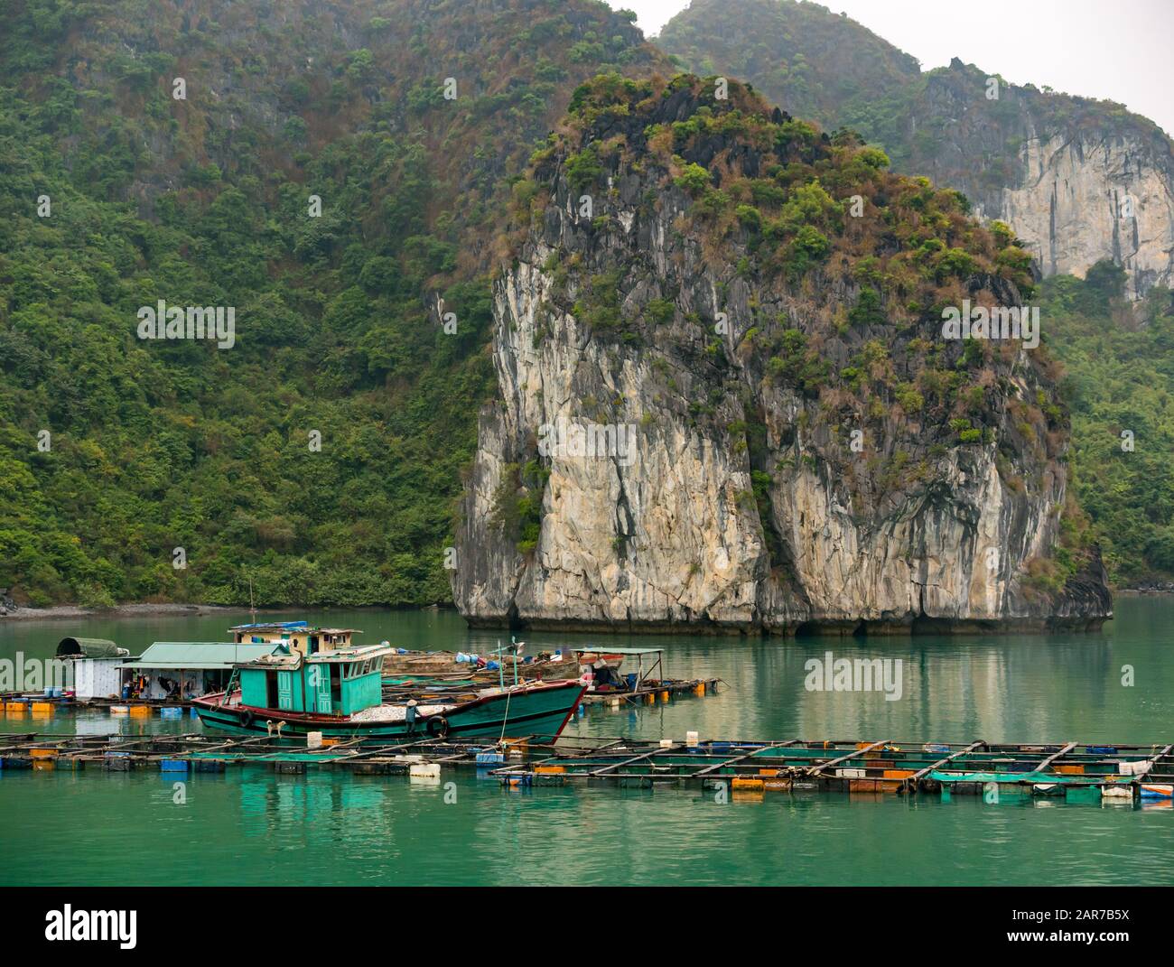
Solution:
<svg viewBox="0 0 1174 967">
<path fill-rule="evenodd" d="M 1174 283 L 1174 149 L 1114 106 L 1001 83 L 959 61 L 910 99 L 895 163 L 951 184 L 1010 224 L 1045 276 L 1109 258 L 1138 299 Z"/>
</svg>

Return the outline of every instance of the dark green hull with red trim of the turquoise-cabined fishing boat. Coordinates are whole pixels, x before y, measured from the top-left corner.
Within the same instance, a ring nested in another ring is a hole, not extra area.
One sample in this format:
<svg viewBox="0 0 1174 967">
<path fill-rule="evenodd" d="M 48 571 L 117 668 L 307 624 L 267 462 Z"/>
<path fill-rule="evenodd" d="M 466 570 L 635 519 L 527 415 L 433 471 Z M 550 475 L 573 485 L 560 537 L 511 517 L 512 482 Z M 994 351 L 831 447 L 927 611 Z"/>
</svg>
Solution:
<svg viewBox="0 0 1174 967">
<path fill-rule="evenodd" d="M 205 696 L 193 702 L 193 705 L 204 725 L 221 731 L 274 735 L 276 723 L 282 722 L 282 738 L 303 738 L 310 732 L 322 732 L 324 738 L 359 738 L 386 744 L 441 737 L 558 737 L 579 704 L 583 690 L 579 682 L 544 683 L 525 691 L 466 702 L 443 715 L 417 718 L 411 726 L 406 722 L 355 722 L 339 716 L 218 704 L 223 695 Z"/>
</svg>

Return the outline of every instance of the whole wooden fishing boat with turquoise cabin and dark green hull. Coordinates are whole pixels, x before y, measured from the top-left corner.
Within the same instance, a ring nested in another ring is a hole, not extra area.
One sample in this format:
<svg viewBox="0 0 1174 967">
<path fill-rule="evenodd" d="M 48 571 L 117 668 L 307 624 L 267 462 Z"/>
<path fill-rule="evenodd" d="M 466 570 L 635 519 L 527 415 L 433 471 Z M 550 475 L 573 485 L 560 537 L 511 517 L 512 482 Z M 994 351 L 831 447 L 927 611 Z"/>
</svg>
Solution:
<svg viewBox="0 0 1174 967">
<path fill-rule="evenodd" d="M 370 743 L 423 738 L 556 738 L 583 692 L 575 681 L 518 682 L 495 688 L 404 689 L 385 701 L 383 647 L 292 649 L 236 667 L 223 692 L 193 702 L 212 729 L 281 738 L 359 738 Z M 235 687 L 238 683 L 238 687 Z"/>
</svg>

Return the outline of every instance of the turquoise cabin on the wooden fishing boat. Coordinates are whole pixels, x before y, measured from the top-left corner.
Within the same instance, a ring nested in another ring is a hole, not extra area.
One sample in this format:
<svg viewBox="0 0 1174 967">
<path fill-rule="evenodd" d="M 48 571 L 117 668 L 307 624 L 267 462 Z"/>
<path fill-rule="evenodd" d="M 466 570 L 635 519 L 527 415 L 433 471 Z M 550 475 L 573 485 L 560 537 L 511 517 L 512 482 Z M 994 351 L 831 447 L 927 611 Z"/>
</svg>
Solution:
<svg viewBox="0 0 1174 967">
<path fill-rule="evenodd" d="M 239 665 L 241 704 L 317 715 L 353 715 L 383 702 L 383 660 L 370 645 Z"/>
</svg>

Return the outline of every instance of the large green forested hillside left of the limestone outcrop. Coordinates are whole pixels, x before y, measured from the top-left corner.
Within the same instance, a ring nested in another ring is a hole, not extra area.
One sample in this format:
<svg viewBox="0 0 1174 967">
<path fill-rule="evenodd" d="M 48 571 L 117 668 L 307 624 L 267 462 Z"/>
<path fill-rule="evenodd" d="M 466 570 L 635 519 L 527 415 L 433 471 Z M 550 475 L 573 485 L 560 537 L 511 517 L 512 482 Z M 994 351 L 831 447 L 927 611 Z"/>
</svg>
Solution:
<svg viewBox="0 0 1174 967">
<path fill-rule="evenodd" d="M 580 81 L 660 61 L 630 20 L 593 0 L 4 5 L 0 587 L 447 600 L 510 176 Z M 158 299 L 234 306 L 235 346 L 140 340 Z"/>
</svg>

